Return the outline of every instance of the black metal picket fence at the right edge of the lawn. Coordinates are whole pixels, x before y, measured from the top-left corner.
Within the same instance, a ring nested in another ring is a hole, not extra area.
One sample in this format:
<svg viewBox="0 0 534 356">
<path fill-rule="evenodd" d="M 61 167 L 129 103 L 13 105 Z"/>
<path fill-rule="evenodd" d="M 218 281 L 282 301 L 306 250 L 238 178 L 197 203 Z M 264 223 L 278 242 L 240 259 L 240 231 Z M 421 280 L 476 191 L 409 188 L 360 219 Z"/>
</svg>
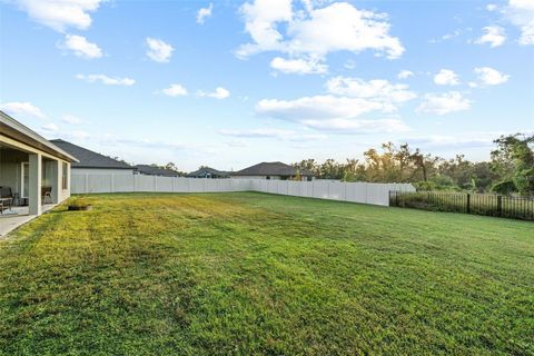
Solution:
<svg viewBox="0 0 534 356">
<path fill-rule="evenodd" d="M 389 191 L 389 206 L 534 220 L 534 197 L 441 191 Z"/>
</svg>

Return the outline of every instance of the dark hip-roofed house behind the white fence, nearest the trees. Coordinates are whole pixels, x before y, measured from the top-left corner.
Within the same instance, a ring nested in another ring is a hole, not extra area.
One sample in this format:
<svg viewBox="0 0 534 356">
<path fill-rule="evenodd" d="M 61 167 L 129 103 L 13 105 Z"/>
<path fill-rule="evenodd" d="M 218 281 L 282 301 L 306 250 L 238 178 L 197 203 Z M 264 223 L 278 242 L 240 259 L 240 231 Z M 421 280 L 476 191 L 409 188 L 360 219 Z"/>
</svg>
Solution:
<svg viewBox="0 0 534 356">
<path fill-rule="evenodd" d="M 231 178 L 274 180 L 296 179 L 298 176 L 301 180 L 314 179 L 313 172 L 283 162 L 261 162 L 231 174 Z"/>
</svg>

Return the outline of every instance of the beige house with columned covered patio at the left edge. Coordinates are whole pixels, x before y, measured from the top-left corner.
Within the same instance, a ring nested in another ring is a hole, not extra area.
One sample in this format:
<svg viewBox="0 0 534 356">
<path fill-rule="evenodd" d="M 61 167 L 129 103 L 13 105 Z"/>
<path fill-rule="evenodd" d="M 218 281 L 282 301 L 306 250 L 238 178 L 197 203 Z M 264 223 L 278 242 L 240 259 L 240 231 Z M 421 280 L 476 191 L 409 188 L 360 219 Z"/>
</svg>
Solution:
<svg viewBox="0 0 534 356">
<path fill-rule="evenodd" d="M 0 111 L 2 205 L 28 205 L 26 214 L 40 215 L 43 196 L 51 205 L 70 197 L 70 167 L 76 164 L 73 155 Z"/>
</svg>

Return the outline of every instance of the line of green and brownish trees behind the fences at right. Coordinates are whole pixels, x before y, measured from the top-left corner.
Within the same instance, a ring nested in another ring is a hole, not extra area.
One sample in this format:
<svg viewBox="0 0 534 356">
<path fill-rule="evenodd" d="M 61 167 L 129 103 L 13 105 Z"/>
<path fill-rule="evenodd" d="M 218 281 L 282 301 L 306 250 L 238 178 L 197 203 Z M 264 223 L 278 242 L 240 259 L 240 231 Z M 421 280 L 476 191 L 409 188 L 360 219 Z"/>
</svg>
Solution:
<svg viewBox="0 0 534 356">
<path fill-rule="evenodd" d="M 319 179 L 372 182 L 412 182 L 418 190 L 518 194 L 534 196 L 534 135 L 515 134 L 494 140 L 490 161 L 474 162 L 423 152 L 408 144 L 370 148 L 363 160 L 305 159 L 293 166 Z"/>
</svg>

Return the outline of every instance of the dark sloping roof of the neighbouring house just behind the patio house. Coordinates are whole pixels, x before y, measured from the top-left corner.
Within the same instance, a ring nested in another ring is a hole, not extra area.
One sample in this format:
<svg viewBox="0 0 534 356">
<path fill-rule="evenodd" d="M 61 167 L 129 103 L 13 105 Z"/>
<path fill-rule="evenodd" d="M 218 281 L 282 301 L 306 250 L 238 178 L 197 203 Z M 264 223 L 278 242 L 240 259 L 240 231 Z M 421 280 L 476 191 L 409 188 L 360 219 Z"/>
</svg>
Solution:
<svg viewBox="0 0 534 356">
<path fill-rule="evenodd" d="M 79 162 L 72 164 L 72 168 L 134 169 L 134 167 L 128 164 L 93 152 L 71 142 L 61 139 L 50 141 L 79 159 Z"/>
</svg>

